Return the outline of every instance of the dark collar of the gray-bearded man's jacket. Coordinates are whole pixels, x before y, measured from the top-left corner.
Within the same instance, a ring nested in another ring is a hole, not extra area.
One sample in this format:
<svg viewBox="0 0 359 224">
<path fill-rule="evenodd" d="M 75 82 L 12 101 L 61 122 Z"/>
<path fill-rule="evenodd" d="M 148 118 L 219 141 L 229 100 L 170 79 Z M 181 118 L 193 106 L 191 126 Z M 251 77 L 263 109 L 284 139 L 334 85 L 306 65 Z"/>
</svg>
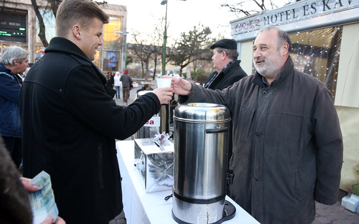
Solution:
<svg viewBox="0 0 359 224">
<path fill-rule="evenodd" d="M 288 57 L 288 60 L 283 68 L 283 70 L 278 74 L 278 76 L 275 78 L 275 83 L 272 87 L 280 86 L 282 83 L 285 82 L 285 80 L 293 74 L 294 71 L 294 64 L 291 57 Z M 252 83 L 254 85 L 260 86 L 262 88 L 267 88 L 266 84 L 262 81 L 262 75 L 256 72 L 254 74 L 254 78 L 252 79 Z"/>
</svg>

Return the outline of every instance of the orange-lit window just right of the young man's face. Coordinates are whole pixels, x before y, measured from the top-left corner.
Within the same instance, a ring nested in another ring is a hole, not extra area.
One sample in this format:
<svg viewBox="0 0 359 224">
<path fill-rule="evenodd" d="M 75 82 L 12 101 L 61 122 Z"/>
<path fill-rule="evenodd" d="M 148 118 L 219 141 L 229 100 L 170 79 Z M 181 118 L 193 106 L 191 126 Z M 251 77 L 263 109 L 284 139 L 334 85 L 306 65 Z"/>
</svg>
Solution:
<svg viewBox="0 0 359 224">
<path fill-rule="evenodd" d="M 111 50 L 121 50 L 121 34 L 116 33 L 116 31 L 121 31 L 121 21 L 122 17 L 112 17 L 110 16 L 110 22 L 104 25 L 104 34 L 103 34 L 103 46 Z"/>
</svg>

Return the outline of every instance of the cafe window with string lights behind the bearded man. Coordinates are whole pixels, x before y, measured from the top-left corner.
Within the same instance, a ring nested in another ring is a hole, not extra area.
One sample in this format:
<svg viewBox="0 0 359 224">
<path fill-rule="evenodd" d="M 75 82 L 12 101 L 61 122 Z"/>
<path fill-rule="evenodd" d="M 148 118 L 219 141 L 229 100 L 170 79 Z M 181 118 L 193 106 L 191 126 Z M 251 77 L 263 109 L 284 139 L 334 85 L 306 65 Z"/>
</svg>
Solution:
<svg viewBox="0 0 359 224">
<path fill-rule="evenodd" d="M 333 97 L 337 88 L 342 28 L 336 26 L 289 34 L 293 45 L 290 57 L 294 68 L 319 79 Z M 254 65 L 252 70 L 254 74 Z"/>
</svg>

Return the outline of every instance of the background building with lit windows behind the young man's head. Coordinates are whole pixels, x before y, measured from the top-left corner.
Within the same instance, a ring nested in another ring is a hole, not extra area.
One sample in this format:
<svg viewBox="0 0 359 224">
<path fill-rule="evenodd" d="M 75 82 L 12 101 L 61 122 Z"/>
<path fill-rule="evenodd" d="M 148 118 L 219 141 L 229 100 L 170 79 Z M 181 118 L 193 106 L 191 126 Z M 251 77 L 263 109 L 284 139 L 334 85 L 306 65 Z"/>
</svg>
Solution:
<svg viewBox="0 0 359 224">
<path fill-rule="evenodd" d="M 55 16 L 47 0 L 37 0 L 45 24 L 45 36 L 49 42 L 55 36 Z M 36 51 L 44 48 L 38 37 L 39 23 L 31 0 L 0 0 L 0 56 L 7 46 L 16 45 L 29 52 L 29 63 L 35 62 Z M 102 71 L 123 71 L 126 36 L 127 7 L 116 4 L 100 4 L 110 16 L 104 25 L 103 46 L 97 50 L 94 63 Z"/>
</svg>

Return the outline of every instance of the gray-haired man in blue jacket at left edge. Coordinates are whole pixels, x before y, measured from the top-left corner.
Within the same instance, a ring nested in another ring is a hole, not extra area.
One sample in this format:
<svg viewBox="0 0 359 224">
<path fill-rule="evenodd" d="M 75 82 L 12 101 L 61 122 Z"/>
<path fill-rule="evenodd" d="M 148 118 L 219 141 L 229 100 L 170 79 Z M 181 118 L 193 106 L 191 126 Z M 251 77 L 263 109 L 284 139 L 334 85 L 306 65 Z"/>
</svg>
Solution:
<svg viewBox="0 0 359 224">
<path fill-rule="evenodd" d="M 17 46 L 7 47 L 0 62 L 0 135 L 18 169 L 22 159 L 19 111 L 21 79 L 18 75 L 28 68 L 28 52 Z"/>
</svg>

